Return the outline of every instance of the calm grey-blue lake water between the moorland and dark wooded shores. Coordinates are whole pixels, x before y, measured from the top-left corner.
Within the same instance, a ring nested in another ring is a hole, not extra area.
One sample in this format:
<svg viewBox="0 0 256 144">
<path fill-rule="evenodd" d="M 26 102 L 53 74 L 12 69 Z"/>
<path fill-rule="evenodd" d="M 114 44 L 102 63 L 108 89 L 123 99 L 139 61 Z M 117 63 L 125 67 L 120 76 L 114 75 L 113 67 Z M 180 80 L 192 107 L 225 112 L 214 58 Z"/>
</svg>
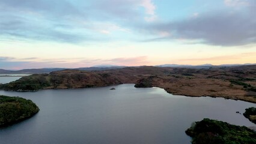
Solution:
<svg viewBox="0 0 256 144">
<path fill-rule="evenodd" d="M 253 103 L 171 95 L 133 84 L 102 88 L 7 92 L 34 101 L 40 112 L 0 130 L 0 143 L 190 143 L 184 131 L 203 118 L 256 125 L 237 114 Z M 116 88 L 111 91 L 110 88 Z"/>
</svg>

